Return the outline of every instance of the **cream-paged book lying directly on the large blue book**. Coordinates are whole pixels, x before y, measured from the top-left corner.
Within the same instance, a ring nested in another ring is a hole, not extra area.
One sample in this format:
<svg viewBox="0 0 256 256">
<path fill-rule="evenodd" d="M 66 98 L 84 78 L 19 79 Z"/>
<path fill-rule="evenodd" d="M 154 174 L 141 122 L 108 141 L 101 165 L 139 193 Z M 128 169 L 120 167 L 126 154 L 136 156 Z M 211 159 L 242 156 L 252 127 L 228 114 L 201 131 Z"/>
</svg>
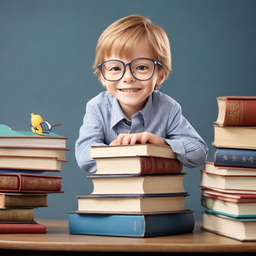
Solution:
<svg viewBox="0 0 256 256">
<path fill-rule="evenodd" d="M 164 212 L 185 210 L 185 197 L 180 194 L 150 194 L 150 195 L 80 195 L 78 211 L 99 212 Z"/>
</svg>

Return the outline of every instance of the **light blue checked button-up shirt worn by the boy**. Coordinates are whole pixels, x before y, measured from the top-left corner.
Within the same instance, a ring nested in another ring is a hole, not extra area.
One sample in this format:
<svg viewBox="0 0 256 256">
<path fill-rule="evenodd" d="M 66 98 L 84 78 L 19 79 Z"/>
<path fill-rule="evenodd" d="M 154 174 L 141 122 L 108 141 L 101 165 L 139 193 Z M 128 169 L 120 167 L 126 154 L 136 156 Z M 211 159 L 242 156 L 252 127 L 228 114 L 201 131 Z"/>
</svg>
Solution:
<svg viewBox="0 0 256 256">
<path fill-rule="evenodd" d="M 131 121 L 131 125 L 123 119 Z M 128 120 L 117 99 L 105 91 L 86 105 L 83 125 L 75 144 L 78 166 L 94 173 L 97 165 L 90 158 L 91 146 L 109 145 L 120 133 L 139 132 L 151 132 L 162 137 L 184 166 L 194 168 L 206 160 L 207 144 L 183 117 L 180 104 L 174 99 L 154 90 L 144 108 Z"/>
</svg>

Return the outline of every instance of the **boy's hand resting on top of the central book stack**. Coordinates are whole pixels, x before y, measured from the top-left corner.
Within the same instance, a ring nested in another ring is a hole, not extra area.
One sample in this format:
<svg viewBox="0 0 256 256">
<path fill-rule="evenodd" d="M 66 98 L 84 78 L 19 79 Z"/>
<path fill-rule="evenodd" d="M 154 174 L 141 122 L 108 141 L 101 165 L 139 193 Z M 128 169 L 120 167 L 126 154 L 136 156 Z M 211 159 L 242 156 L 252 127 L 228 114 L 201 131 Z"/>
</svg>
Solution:
<svg viewBox="0 0 256 256">
<path fill-rule="evenodd" d="M 168 145 L 164 139 L 150 132 L 140 133 L 121 133 L 117 139 L 113 140 L 109 146 L 128 145 L 128 144 L 160 144 Z"/>
</svg>

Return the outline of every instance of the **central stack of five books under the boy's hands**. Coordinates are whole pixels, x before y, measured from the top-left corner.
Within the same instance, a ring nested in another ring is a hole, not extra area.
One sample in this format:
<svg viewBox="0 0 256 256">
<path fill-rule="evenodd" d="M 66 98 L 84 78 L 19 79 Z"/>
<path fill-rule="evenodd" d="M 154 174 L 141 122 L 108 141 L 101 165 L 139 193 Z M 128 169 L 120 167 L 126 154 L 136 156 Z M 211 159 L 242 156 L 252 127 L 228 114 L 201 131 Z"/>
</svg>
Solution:
<svg viewBox="0 0 256 256">
<path fill-rule="evenodd" d="M 169 146 L 95 146 L 90 195 L 77 196 L 71 234 L 149 237 L 190 233 L 194 211 L 185 208 L 186 173 Z"/>
</svg>

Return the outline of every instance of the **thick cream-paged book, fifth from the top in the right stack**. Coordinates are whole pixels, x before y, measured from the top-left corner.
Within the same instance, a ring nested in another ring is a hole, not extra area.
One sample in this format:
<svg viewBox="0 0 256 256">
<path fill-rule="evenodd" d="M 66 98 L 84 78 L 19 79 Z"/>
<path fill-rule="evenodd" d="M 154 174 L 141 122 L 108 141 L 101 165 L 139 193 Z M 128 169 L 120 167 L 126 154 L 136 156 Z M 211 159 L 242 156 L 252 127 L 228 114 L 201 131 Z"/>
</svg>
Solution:
<svg viewBox="0 0 256 256">
<path fill-rule="evenodd" d="M 204 170 L 201 171 L 200 185 L 212 189 L 235 189 L 235 190 L 247 190 L 256 191 L 256 174 L 254 176 L 227 176 L 218 175 L 213 173 L 207 173 Z M 249 194 L 249 192 L 248 192 Z"/>
</svg>

